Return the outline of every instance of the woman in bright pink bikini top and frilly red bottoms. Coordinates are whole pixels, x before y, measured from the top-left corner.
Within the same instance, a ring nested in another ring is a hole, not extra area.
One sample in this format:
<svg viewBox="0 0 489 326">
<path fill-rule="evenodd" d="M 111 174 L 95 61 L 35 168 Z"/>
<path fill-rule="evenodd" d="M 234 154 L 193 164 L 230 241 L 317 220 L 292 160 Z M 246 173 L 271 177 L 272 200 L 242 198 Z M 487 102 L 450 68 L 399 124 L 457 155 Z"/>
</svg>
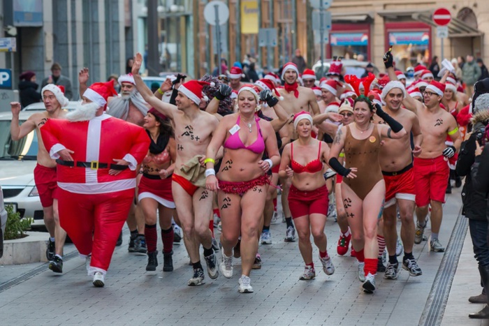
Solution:
<svg viewBox="0 0 489 326">
<path fill-rule="evenodd" d="M 228 279 L 233 276 L 233 248 L 241 234 L 242 276 L 238 290 L 242 293 L 253 292 L 249 273 L 258 251 L 257 233 L 265 207 L 266 186 L 270 183 L 266 172 L 280 161 L 272 125 L 256 115 L 260 108 L 258 101 L 256 87 L 245 85 L 240 88 L 238 113 L 221 119 L 207 147 L 205 159 L 206 188 L 218 191 L 221 212 L 221 273 Z M 217 172 L 218 180 L 214 159 L 221 146 L 224 146 L 224 157 Z M 265 150 L 269 158 L 262 160 Z"/>
</svg>

